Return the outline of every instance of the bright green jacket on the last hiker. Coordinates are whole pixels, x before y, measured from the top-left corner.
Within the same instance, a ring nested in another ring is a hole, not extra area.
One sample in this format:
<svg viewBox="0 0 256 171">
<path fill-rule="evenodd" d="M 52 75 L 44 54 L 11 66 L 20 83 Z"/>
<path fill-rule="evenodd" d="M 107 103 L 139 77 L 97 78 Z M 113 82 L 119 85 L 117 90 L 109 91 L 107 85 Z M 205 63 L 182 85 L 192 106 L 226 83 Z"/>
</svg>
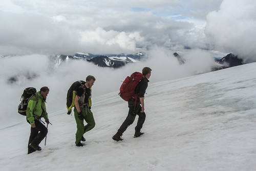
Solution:
<svg viewBox="0 0 256 171">
<path fill-rule="evenodd" d="M 36 95 L 38 97 L 38 101 L 36 96 L 32 96 L 28 102 L 28 107 L 26 111 L 27 120 L 30 122 L 31 125 L 35 123 L 35 119 L 44 117 L 46 121 L 49 121 L 48 119 L 48 113 L 46 111 L 46 98 L 44 99 L 42 95 L 40 94 L 40 91 L 36 92 Z M 44 116 L 42 116 L 42 112 L 44 110 Z"/>
</svg>

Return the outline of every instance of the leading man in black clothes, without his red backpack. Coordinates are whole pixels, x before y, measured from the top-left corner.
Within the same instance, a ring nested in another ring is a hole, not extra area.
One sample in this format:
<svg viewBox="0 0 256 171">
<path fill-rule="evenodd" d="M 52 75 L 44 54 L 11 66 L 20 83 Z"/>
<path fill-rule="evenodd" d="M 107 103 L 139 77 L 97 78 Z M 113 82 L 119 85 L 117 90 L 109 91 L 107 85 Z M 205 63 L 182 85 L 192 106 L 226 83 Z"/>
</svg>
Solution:
<svg viewBox="0 0 256 171">
<path fill-rule="evenodd" d="M 138 83 L 138 85 L 135 88 L 135 94 L 138 94 L 138 99 L 130 99 L 128 101 L 128 107 L 129 107 L 129 112 L 128 112 L 128 116 L 126 117 L 126 119 L 124 120 L 124 122 L 122 123 L 122 125 L 120 126 L 120 128 L 118 129 L 117 133 L 112 137 L 113 140 L 115 141 L 122 141 L 123 139 L 121 138 L 121 136 L 123 135 L 123 132 L 127 129 L 128 126 L 130 126 L 131 124 L 133 124 L 136 115 L 139 116 L 138 118 L 138 122 L 137 122 L 137 126 L 135 127 L 135 134 L 134 134 L 134 138 L 136 137 L 140 137 L 142 134 L 144 134 L 144 132 L 141 132 L 141 128 L 143 126 L 143 123 L 145 121 L 146 118 L 146 114 L 144 112 L 144 94 L 147 88 L 147 83 L 149 82 L 148 79 L 151 76 L 151 71 L 152 69 L 149 67 L 144 67 L 142 69 L 142 74 L 143 74 L 143 78 L 142 80 Z M 136 102 L 136 104 L 135 104 Z"/>
</svg>

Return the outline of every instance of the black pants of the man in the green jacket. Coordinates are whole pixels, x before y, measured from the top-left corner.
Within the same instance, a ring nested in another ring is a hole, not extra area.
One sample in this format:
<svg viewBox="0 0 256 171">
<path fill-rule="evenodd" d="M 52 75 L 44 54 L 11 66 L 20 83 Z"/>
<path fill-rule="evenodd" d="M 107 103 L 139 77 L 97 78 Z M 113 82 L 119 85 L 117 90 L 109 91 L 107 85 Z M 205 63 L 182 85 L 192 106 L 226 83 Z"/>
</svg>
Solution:
<svg viewBox="0 0 256 171">
<path fill-rule="evenodd" d="M 40 121 L 35 120 L 35 127 L 30 128 L 30 137 L 28 144 L 39 145 L 40 142 L 46 137 L 48 129 Z M 29 147 L 28 147 L 29 148 Z"/>
</svg>

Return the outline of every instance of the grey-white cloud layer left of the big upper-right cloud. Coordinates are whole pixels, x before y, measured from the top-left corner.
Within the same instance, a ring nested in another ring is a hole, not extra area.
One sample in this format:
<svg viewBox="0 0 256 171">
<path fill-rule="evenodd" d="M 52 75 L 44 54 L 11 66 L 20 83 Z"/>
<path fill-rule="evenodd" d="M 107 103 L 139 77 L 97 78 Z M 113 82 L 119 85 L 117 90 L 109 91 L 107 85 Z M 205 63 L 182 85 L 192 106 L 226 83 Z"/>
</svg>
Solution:
<svg viewBox="0 0 256 171">
<path fill-rule="evenodd" d="M 2 1 L 0 52 L 131 53 L 155 45 L 207 48 L 201 15 L 217 10 L 219 3 L 197 7 L 198 1 Z M 172 17 L 177 15 L 182 20 Z"/>
</svg>

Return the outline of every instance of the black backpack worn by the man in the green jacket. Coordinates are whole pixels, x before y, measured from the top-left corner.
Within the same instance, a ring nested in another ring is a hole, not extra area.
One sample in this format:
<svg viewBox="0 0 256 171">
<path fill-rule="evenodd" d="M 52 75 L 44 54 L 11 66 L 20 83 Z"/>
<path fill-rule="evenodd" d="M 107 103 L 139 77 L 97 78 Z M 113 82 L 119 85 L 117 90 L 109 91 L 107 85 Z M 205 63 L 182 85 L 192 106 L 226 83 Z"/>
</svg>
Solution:
<svg viewBox="0 0 256 171">
<path fill-rule="evenodd" d="M 20 98 L 20 104 L 18 105 L 18 113 L 20 115 L 26 116 L 26 110 L 28 107 L 28 102 L 32 96 L 36 96 L 36 102 L 38 101 L 38 97 L 36 95 L 36 89 L 34 87 L 25 88 Z"/>
</svg>

